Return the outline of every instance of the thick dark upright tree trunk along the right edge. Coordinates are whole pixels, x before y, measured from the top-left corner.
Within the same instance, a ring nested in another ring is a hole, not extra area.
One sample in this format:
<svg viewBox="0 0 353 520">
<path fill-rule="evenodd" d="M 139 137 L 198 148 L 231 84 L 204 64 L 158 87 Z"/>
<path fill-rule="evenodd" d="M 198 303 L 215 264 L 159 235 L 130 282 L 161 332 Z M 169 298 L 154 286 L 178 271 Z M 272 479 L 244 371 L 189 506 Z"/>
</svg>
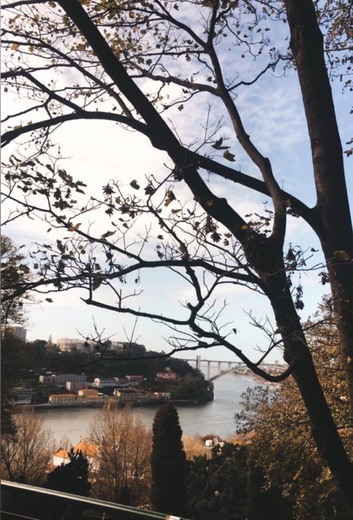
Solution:
<svg viewBox="0 0 353 520">
<path fill-rule="evenodd" d="M 324 61 L 323 37 L 310 0 L 285 0 L 312 149 L 325 255 L 353 417 L 353 233 L 343 152 Z"/>
</svg>

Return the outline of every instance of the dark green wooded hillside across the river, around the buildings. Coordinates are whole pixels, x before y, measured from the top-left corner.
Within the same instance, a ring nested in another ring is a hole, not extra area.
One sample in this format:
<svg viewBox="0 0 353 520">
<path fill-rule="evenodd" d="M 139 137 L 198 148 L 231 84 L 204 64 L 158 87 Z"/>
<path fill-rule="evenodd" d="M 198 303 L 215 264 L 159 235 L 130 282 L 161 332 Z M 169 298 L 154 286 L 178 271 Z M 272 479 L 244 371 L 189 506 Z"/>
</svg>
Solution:
<svg viewBox="0 0 353 520">
<path fill-rule="evenodd" d="M 121 353 L 107 359 L 97 358 L 93 352 L 61 352 L 57 348 L 46 348 L 44 340 L 30 343 L 20 342 L 17 359 L 17 385 L 32 387 L 35 402 L 43 403 L 51 394 L 62 393 L 55 385 L 42 385 L 39 375 L 46 372 L 54 374 L 86 374 L 87 381 L 94 378 L 122 378 L 126 375 L 141 375 L 143 388 L 156 392 L 169 392 L 172 399 L 212 399 L 213 385 L 205 380 L 202 372 L 191 367 L 186 361 L 172 359 L 163 354 L 148 351 L 143 345 L 132 344 Z M 125 356 L 129 355 L 127 359 Z M 175 380 L 156 380 L 156 374 L 173 372 Z M 10 383 L 11 384 L 11 383 Z M 105 390 L 111 393 L 112 389 Z"/>
</svg>

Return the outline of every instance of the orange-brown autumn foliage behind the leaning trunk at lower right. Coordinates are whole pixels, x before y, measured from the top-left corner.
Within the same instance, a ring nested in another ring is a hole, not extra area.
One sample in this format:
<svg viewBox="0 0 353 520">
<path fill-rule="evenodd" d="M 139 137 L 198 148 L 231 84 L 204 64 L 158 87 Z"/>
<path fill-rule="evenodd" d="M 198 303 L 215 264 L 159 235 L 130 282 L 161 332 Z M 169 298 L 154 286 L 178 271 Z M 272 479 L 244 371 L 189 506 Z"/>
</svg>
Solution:
<svg viewBox="0 0 353 520">
<path fill-rule="evenodd" d="M 353 455 L 347 387 L 338 356 L 337 322 L 326 300 L 306 324 L 318 375 L 348 453 Z M 350 518 L 349 509 L 313 442 L 310 424 L 293 380 L 278 388 L 257 387 L 244 396 L 237 415 L 242 431 L 253 432 L 251 453 L 263 472 L 263 488 L 286 499 L 296 520 Z"/>
</svg>

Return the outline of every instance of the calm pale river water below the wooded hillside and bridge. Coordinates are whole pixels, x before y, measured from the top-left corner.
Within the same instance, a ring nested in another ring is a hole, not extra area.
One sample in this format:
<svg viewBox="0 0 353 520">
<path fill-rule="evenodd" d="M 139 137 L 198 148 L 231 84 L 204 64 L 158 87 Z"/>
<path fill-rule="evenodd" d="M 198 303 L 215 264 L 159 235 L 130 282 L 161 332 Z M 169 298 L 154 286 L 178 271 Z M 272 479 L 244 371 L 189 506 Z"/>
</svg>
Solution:
<svg viewBox="0 0 353 520">
<path fill-rule="evenodd" d="M 209 403 L 197 406 L 178 407 L 179 422 L 184 434 L 214 434 L 225 439 L 235 433 L 234 414 L 241 409 L 241 394 L 248 387 L 259 383 L 254 379 L 236 374 L 226 374 L 214 381 L 215 398 Z M 144 424 L 152 427 L 158 407 L 133 408 L 134 415 L 140 415 Z M 44 427 L 52 433 L 56 446 L 62 441 L 70 445 L 88 437 L 90 425 L 101 413 L 96 408 L 36 409 L 36 414 L 44 421 Z"/>
</svg>

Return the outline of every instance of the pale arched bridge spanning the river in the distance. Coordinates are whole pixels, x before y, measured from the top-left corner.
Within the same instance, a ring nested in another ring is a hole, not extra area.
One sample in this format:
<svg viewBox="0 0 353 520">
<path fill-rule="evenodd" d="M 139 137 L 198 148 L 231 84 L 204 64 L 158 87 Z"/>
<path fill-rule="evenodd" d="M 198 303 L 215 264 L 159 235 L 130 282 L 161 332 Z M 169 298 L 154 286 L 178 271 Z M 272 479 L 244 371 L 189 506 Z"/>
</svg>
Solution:
<svg viewBox="0 0 353 520">
<path fill-rule="evenodd" d="M 194 366 L 197 370 L 206 373 L 206 378 L 208 381 L 217 379 L 217 377 L 220 377 L 228 372 L 246 373 L 249 370 L 245 363 L 242 363 L 241 361 L 219 361 L 214 359 L 201 359 L 201 356 L 196 356 L 196 359 L 183 358 L 183 360 L 187 361 L 191 366 Z M 201 367 L 203 367 L 204 370 L 202 370 Z M 280 365 L 279 363 L 263 363 L 260 365 L 260 367 L 265 372 L 270 373 L 279 373 L 284 369 L 284 366 Z M 216 368 L 216 374 L 214 374 L 213 376 L 211 376 L 211 368 Z"/>
</svg>

